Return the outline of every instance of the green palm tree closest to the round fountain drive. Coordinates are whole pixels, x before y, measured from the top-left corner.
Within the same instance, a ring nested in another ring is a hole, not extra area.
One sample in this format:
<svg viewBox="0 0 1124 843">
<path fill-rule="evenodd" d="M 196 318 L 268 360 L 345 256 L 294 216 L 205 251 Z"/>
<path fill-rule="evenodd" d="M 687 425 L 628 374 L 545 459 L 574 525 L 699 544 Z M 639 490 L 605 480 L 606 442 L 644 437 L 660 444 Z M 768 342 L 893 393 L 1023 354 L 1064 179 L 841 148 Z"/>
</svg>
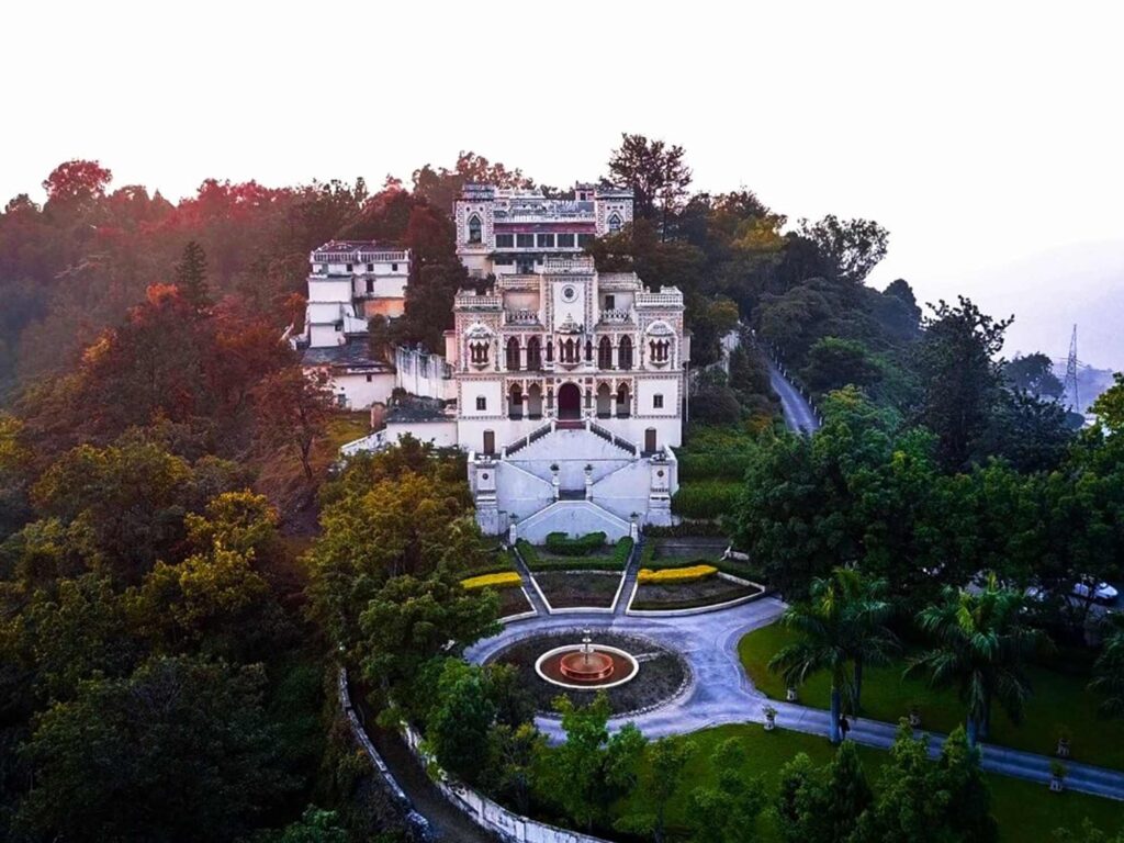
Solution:
<svg viewBox="0 0 1124 843">
<path fill-rule="evenodd" d="M 812 673 L 831 673 L 832 743 L 840 742 L 844 695 L 854 710 L 859 708 L 863 664 L 882 662 L 897 647 L 885 626 L 889 605 L 879 598 L 883 588 L 853 569 L 836 568 L 830 578 L 813 580 L 808 600 L 794 604 L 781 616 L 800 640 L 778 651 L 769 669 L 794 687 Z"/>
</svg>

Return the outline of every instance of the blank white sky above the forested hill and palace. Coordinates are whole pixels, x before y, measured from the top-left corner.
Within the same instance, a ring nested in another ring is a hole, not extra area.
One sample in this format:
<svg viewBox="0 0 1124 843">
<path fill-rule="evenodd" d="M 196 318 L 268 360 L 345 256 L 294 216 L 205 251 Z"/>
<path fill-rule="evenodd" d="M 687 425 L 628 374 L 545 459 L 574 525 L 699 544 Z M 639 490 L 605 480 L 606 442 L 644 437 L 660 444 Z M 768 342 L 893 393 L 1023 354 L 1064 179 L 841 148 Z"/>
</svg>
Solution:
<svg viewBox="0 0 1124 843">
<path fill-rule="evenodd" d="M 697 188 L 878 219 L 876 284 L 973 293 L 1076 244 L 1124 255 L 1122 33 L 1124 4 L 1072 1 L 13 2 L 0 201 L 71 157 L 171 198 L 460 149 L 565 185 L 626 130 L 683 145 Z"/>
</svg>

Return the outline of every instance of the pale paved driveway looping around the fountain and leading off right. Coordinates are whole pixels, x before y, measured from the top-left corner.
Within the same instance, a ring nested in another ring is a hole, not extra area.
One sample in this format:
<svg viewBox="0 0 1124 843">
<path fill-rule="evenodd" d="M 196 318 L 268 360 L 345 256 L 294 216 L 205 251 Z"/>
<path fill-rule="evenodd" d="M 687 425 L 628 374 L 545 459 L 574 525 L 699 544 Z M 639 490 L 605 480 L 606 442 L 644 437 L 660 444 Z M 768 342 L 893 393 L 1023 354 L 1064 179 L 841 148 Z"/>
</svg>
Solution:
<svg viewBox="0 0 1124 843">
<path fill-rule="evenodd" d="M 694 681 L 681 697 L 654 711 L 613 718 L 609 720 L 611 729 L 633 722 L 647 737 L 663 737 L 725 724 L 763 723 L 763 707 L 769 703 L 777 709 L 780 728 L 826 737 L 830 732 L 830 714 L 826 710 L 769 700 L 745 676 L 737 658 L 737 642 L 742 636 L 773 623 L 783 609 L 785 604 L 780 600 L 763 598 L 722 611 L 667 619 L 624 615 L 610 617 L 592 613 L 542 616 L 508 624 L 499 635 L 469 647 L 465 658 L 479 664 L 516 641 L 551 631 L 589 627 L 636 634 L 681 653 L 690 664 Z M 536 724 L 550 740 L 562 740 L 558 718 L 540 716 Z M 894 743 L 896 735 L 895 724 L 858 718 L 852 720 L 847 737 L 868 746 L 886 749 Z M 935 755 L 945 735 L 931 735 L 930 751 Z M 991 744 L 980 746 L 985 770 L 1043 785 L 1050 780 L 1053 761 L 1050 756 Z M 1124 800 L 1124 772 L 1078 762 L 1066 762 L 1066 767 L 1067 789 Z"/>
</svg>

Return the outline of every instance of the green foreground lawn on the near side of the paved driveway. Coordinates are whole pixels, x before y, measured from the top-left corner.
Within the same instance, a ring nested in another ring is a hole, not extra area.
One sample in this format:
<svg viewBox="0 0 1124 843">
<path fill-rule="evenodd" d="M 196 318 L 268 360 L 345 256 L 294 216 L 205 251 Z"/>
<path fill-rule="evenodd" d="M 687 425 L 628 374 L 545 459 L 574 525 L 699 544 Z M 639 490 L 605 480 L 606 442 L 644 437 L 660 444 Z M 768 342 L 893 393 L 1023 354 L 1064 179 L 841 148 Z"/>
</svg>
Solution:
<svg viewBox="0 0 1124 843">
<path fill-rule="evenodd" d="M 715 783 L 710 758 L 718 744 L 728 738 L 736 738 L 744 744 L 746 764 L 754 776 L 764 779 L 770 796 L 776 791 L 780 768 L 798 752 L 807 753 L 817 764 L 830 761 L 833 753 L 831 745 L 822 737 L 786 731 L 769 733 L 756 724 L 719 726 L 685 736 L 681 740 L 691 741 L 696 752 L 683 774 L 686 783 L 668 804 L 669 819 L 677 830 L 685 828 L 683 816 L 690 791 L 699 786 Z M 877 789 L 879 770 L 888 756 L 881 750 L 865 746 L 860 746 L 859 753 L 867 778 Z M 987 780 L 991 787 L 991 813 L 999 823 L 1000 839 L 1005 842 L 1048 841 L 1054 828 L 1079 828 L 1085 817 L 1111 833 L 1124 826 L 1121 803 L 1084 794 L 1051 794 L 1044 785 L 990 773 L 987 774 Z M 644 795 L 637 794 L 632 798 L 643 799 Z M 623 807 L 618 806 L 618 809 Z M 762 816 L 760 828 L 762 840 L 778 840 L 770 816 Z"/>
</svg>

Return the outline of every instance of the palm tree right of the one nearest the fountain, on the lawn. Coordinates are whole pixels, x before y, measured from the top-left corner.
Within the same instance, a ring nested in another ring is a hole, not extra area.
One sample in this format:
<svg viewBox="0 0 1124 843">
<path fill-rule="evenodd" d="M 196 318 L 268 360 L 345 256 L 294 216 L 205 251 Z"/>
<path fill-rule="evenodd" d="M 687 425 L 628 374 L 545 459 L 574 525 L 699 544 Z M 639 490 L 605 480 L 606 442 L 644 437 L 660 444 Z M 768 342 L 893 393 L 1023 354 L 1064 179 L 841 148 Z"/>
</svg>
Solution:
<svg viewBox="0 0 1124 843">
<path fill-rule="evenodd" d="M 991 705 L 998 703 L 1018 723 L 1031 686 L 1023 662 L 1043 641 L 1023 620 L 1021 591 L 1000 588 L 995 574 L 982 591 L 945 587 L 941 602 L 917 615 L 935 646 L 914 659 L 906 672 L 928 671 L 934 685 L 955 685 L 968 706 L 968 742 L 987 737 Z"/>
</svg>

